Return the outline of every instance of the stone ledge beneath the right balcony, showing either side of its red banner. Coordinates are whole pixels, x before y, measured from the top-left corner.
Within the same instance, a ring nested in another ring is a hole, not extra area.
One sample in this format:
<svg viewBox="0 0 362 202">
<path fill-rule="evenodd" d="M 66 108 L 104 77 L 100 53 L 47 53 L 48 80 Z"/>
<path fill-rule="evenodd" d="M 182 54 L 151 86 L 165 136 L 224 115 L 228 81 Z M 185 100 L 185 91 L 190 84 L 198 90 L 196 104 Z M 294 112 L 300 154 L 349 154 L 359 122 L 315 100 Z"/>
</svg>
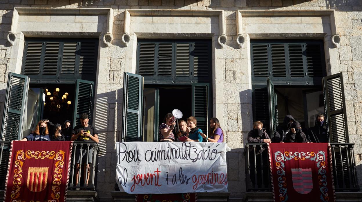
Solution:
<svg viewBox="0 0 362 202">
<path fill-rule="evenodd" d="M 336 202 L 361 202 L 362 192 L 336 192 Z M 271 192 L 246 192 L 243 202 L 267 202 L 273 201 Z"/>
</svg>

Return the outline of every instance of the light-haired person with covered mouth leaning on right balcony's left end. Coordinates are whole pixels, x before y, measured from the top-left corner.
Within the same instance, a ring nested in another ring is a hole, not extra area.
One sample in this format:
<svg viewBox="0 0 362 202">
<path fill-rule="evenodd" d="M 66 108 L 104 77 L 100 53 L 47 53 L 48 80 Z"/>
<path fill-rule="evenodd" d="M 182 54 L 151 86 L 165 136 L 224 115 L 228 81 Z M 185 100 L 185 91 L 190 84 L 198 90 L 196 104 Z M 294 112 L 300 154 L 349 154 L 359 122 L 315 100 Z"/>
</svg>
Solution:
<svg viewBox="0 0 362 202">
<path fill-rule="evenodd" d="M 261 121 L 256 121 L 253 124 L 253 130 L 248 133 L 248 143 L 270 143 L 271 139 L 266 133 L 266 129 L 263 128 L 263 123 Z M 253 183 L 253 187 L 261 188 L 262 186 L 268 187 L 268 152 L 263 152 L 265 150 L 264 146 L 257 146 L 254 150 L 254 147 L 249 147 L 249 169 L 250 169 L 250 180 Z M 254 151 L 255 151 L 255 160 L 254 160 Z M 256 165 L 254 165 L 256 161 Z M 255 170 L 257 175 L 255 175 Z M 261 172 L 263 171 L 263 172 Z M 263 175 L 261 175 L 263 173 Z M 255 184 L 256 183 L 256 184 Z"/>
</svg>

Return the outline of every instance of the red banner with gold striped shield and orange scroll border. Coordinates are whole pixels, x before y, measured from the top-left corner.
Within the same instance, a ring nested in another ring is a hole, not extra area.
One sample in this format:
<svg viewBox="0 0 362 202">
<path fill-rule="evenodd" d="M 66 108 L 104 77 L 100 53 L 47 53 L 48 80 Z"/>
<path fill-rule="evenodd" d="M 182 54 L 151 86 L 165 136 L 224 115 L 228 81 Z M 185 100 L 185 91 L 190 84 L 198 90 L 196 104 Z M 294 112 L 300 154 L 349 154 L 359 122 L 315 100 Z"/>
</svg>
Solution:
<svg viewBox="0 0 362 202">
<path fill-rule="evenodd" d="M 4 201 L 66 200 L 72 142 L 12 141 Z"/>
</svg>

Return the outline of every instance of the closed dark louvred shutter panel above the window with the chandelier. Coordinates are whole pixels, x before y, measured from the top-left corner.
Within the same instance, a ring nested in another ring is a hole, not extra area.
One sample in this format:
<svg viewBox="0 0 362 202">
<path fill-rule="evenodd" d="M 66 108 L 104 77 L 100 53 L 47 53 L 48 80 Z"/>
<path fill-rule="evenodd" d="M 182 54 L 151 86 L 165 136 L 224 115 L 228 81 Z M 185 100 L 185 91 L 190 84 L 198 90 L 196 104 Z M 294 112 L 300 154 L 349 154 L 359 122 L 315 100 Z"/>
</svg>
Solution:
<svg viewBox="0 0 362 202">
<path fill-rule="evenodd" d="M 98 39 L 26 39 L 22 74 L 30 83 L 95 80 Z"/>
</svg>

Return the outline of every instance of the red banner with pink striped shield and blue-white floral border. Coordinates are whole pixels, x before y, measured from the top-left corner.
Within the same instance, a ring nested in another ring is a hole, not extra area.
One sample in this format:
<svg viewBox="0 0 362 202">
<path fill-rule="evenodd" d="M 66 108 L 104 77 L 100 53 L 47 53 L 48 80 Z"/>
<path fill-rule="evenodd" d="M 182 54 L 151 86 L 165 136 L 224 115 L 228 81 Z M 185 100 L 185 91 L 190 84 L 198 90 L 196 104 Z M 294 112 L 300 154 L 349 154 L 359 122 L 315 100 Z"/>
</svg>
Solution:
<svg viewBox="0 0 362 202">
<path fill-rule="evenodd" d="M 268 143 L 275 202 L 335 202 L 329 143 Z"/>
</svg>

